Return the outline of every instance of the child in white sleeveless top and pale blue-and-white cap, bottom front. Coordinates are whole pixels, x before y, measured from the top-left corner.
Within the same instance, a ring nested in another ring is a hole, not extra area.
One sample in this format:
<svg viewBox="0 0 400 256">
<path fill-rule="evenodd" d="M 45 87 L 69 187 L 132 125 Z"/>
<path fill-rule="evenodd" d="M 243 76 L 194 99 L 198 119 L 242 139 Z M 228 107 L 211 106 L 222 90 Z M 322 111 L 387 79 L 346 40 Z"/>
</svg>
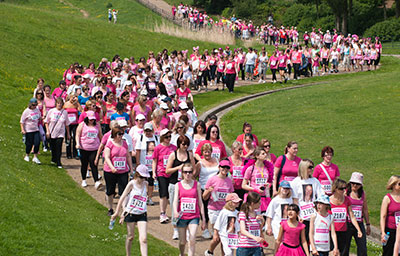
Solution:
<svg viewBox="0 0 400 256">
<path fill-rule="evenodd" d="M 313 255 L 328 256 L 330 251 L 329 229 L 334 245 L 333 255 L 339 255 L 337 237 L 330 210 L 329 197 L 321 195 L 315 200 L 317 212 L 310 218 L 310 249 Z"/>
</svg>

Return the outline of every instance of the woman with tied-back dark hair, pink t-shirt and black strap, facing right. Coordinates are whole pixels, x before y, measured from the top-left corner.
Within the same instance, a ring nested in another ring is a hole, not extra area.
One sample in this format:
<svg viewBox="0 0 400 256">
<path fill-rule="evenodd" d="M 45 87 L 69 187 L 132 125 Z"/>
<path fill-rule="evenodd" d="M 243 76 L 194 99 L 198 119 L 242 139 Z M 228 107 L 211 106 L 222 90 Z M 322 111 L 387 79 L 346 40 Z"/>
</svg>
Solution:
<svg viewBox="0 0 400 256">
<path fill-rule="evenodd" d="M 290 183 L 296 178 L 301 161 L 301 158 L 297 156 L 297 151 L 297 142 L 289 141 L 285 147 L 285 154 L 276 159 L 273 183 L 274 195 L 277 193 L 277 185 L 279 182 L 287 180 Z"/>
</svg>

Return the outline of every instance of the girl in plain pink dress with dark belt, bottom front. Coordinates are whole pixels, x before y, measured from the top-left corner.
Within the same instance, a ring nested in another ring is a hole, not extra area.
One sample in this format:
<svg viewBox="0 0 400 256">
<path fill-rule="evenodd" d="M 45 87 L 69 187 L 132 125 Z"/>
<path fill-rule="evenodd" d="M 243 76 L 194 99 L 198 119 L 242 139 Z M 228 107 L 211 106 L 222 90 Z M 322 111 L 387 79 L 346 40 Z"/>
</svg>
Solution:
<svg viewBox="0 0 400 256">
<path fill-rule="evenodd" d="M 276 256 L 309 256 L 307 240 L 305 235 L 305 225 L 298 221 L 300 208 L 297 204 L 288 207 L 288 220 L 281 222 L 278 239 L 276 240 Z M 282 241 L 283 238 L 283 241 Z M 299 241 L 300 239 L 301 241 Z M 282 242 L 282 244 L 281 244 Z M 301 242 L 301 243 L 300 243 Z M 303 249 L 300 248 L 302 244 Z M 304 253 L 305 252 L 305 253 Z"/>
</svg>

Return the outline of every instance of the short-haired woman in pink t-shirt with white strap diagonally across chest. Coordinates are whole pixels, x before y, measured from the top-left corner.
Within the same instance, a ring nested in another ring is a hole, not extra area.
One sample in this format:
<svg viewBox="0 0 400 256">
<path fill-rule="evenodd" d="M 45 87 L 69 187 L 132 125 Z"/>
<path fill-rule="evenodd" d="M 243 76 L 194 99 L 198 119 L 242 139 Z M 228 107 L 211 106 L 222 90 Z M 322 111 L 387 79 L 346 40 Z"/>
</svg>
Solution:
<svg viewBox="0 0 400 256">
<path fill-rule="evenodd" d="M 327 195 L 332 195 L 332 183 L 336 178 L 340 177 L 339 168 L 332 163 L 333 154 L 333 148 L 330 146 L 324 147 L 321 151 L 323 161 L 315 167 L 313 173 L 313 177 L 319 180 L 322 189 Z"/>
</svg>

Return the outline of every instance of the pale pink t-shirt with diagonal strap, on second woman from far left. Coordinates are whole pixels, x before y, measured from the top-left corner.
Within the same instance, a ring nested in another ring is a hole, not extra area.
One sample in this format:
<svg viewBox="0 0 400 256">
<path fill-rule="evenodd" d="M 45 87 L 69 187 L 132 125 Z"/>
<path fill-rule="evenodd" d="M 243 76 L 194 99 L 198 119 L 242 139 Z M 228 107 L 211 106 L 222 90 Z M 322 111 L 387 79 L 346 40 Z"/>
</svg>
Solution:
<svg viewBox="0 0 400 256">
<path fill-rule="evenodd" d="M 47 112 L 45 123 L 49 124 L 49 132 L 52 139 L 64 138 L 65 127 L 69 125 L 68 114 L 64 109 L 50 109 Z"/>
</svg>

